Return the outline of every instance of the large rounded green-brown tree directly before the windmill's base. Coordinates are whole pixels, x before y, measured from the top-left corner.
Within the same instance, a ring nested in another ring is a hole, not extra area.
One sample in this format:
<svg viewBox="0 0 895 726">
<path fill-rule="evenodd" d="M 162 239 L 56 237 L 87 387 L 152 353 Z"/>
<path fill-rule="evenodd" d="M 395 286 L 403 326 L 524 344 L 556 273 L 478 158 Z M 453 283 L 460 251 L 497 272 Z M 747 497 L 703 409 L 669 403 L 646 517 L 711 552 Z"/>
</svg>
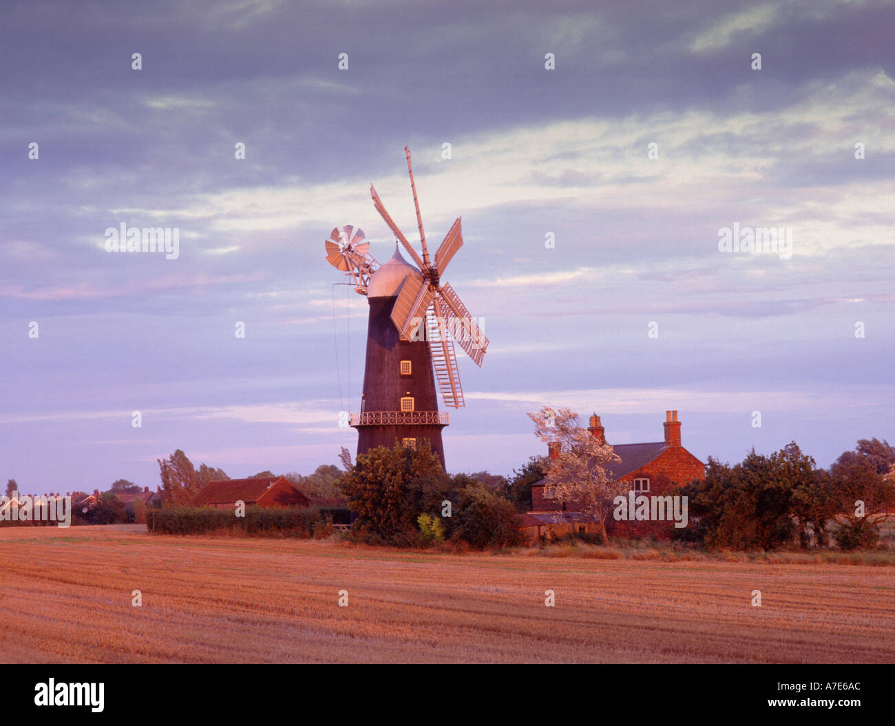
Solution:
<svg viewBox="0 0 895 726">
<path fill-rule="evenodd" d="M 428 443 L 416 449 L 396 443 L 357 457 L 342 485 L 355 527 L 390 544 L 407 544 L 418 536 L 417 518 L 440 511 L 449 480 Z"/>
</svg>

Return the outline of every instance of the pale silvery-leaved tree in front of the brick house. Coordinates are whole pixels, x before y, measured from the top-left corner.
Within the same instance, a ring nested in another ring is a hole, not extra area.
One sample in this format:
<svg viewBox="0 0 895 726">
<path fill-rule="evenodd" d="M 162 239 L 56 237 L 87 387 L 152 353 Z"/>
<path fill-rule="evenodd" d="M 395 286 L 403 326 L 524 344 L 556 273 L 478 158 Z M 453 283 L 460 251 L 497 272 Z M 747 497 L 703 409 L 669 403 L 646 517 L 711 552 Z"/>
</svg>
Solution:
<svg viewBox="0 0 895 726">
<path fill-rule="evenodd" d="M 628 485 L 612 481 L 605 467 L 621 460 L 608 443 L 601 443 L 582 426 L 575 411 L 543 406 L 528 416 L 534 421 L 534 434 L 558 450 L 556 460 L 546 462 L 544 496 L 592 519 L 600 528 L 603 544 L 608 545 L 606 517 L 613 499 L 625 494 Z"/>
</svg>

